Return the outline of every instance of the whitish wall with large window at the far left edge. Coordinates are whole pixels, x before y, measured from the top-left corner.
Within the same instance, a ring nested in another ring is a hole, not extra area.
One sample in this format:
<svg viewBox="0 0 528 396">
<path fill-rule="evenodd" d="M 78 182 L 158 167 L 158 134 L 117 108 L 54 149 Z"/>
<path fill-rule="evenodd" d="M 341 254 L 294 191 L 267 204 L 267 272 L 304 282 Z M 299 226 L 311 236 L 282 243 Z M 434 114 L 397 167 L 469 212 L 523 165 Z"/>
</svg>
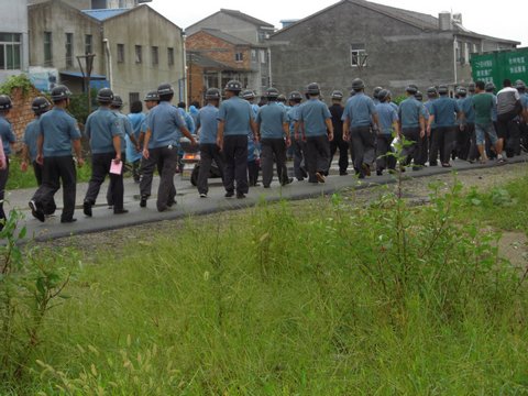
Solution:
<svg viewBox="0 0 528 396">
<path fill-rule="evenodd" d="M 18 70 L 0 70 L 0 82 L 12 75 L 28 72 L 29 68 L 29 37 L 28 37 L 28 1 L 0 0 L 0 15 L 2 33 L 22 34 L 21 68 Z"/>
</svg>

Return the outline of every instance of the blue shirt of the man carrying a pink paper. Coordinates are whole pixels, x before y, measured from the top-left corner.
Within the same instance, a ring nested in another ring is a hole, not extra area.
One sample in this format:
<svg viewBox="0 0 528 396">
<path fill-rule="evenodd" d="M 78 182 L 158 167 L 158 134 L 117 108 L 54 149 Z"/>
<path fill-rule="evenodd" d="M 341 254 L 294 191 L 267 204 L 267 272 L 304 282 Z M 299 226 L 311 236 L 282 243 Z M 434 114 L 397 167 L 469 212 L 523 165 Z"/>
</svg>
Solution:
<svg viewBox="0 0 528 396">
<path fill-rule="evenodd" d="M 85 133 L 94 154 L 113 153 L 113 136 L 123 138 L 118 114 L 107 107 L 99 108 L 88 117 Z"/>
</svg>

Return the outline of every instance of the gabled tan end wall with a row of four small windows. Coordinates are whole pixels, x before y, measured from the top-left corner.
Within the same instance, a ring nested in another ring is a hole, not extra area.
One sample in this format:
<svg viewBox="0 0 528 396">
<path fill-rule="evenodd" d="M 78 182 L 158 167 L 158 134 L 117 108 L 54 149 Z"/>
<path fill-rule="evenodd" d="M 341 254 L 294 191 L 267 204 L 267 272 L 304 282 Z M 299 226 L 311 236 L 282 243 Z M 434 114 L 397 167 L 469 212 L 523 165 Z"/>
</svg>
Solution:
<svg viewBox="0 0 528 396">
<path fill-rule="evenodd" d="M 182 30 L 170 21 L 141 6 L 133 11 L 109 19 L 103 23 L 103 36 L 109 41 L 112 57 L 112 89 L 129 105 L 130 92 L 140 98 L 156 89 L 162 82 L 170 82 L 175 99 L 179 100 L 178 84 L 184 82 L 185 55 Z M 124 45 L 124 62 L 118 63 L 118 44 Z M 142 46 L 143 62 L 135 63 L 135 45 Z M 152 47 L 158 47 L 158 64 L 153 65 Z M 167 48 L 174 48 L 174 65 L 168 65 Z M 110 69 L 103 74 L 110 76 Z"/>
</svg>

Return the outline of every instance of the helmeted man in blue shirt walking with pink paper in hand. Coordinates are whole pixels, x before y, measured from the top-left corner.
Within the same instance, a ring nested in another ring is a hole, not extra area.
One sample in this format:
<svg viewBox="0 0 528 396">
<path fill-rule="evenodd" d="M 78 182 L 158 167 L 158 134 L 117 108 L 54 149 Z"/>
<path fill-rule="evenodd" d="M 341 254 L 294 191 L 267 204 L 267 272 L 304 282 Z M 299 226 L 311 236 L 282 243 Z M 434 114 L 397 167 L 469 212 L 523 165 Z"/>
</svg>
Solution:
<svg viewBox="0 0 528 396">
<path fill-rule="evenodd" d="M 99 109 L 94 111 L 86 120 L 85 134 L 89 139 L 91 148 L 91 177 L 82 202 L 82 211 L 86 216 L 92 216 L 92 206 L 96 205 L 97 196 L 107 175 L 110 177 L 113 212 L 127 213 L 123 208 L 123 169 L 122 148 L 124 131 L 116 112 L 111 110 L 114 96 L 111 89 L 102 88 L 97 94 Z M 112 163 L 121 164 L 119 174 L 110 172 Z"/>
</svg>

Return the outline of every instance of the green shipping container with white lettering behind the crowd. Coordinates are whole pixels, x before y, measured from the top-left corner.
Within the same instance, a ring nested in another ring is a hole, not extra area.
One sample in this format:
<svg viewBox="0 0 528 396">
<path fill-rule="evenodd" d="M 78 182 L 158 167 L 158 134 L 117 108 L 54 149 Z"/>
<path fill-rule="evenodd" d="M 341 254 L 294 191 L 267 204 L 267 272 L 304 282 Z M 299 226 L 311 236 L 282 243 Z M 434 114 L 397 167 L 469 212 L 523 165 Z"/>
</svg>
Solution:
<svg viewBox="0 0 528 396">
<path fill-rule="evenodd" d="M 506 78 L 528 84 L 528 47 L 474 54 L 470 62 L 473 81 L 493 82 L 497 88 Z"/>
</svg>

